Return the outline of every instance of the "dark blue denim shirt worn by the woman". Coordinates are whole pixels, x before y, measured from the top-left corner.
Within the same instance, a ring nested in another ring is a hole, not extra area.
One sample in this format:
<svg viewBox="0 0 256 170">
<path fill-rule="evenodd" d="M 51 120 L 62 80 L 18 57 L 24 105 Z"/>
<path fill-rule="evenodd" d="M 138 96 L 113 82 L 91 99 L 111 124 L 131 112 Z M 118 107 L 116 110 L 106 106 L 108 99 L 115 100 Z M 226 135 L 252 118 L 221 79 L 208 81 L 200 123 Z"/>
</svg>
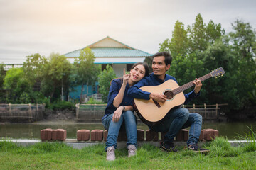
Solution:
<svg viewBox="0 0 256 170">
<path fill-rule="evenodd" d="M 105 115 L 103 116 L 102 120 L 106 118 L 108 115 L 114 113 L 117 110 L 116 107 L 113 105 L 114 98 L 119 93 L 119 90 L 122 86 L 122 79 L 113 79 L 110 86 L 110 92 L 107 96 L 107 107 L 105 108 Z M 124 98 L 120 103 L 120 106 L 132 106 L 133 105 L 133 97 L 128 96 L 127 91 L 130 88 L 129 84 L 125 86 L 124 91 Z"/>
</svg>

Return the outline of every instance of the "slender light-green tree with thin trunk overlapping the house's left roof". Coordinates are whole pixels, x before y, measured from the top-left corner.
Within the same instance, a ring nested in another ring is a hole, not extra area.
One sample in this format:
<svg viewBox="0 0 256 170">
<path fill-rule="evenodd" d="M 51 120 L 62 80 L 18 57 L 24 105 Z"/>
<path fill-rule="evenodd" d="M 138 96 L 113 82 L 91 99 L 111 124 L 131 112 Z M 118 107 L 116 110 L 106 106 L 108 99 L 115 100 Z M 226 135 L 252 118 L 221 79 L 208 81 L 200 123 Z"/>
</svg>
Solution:
<svg viewBox="0 0 256 170">
<path fill-rule="evenodd" d="M 80 103 L 82 103 L 82 93 L 84 85 L 95 85 L 97 81 L 97 75 L 100 72 L 100 68 L 94 64 L 95 56 L 89 47 L 81 50 L 80 56 L 75 59 L 74 65 L 77 72 L 76 82 L 81 85 Z"/>
</svg>

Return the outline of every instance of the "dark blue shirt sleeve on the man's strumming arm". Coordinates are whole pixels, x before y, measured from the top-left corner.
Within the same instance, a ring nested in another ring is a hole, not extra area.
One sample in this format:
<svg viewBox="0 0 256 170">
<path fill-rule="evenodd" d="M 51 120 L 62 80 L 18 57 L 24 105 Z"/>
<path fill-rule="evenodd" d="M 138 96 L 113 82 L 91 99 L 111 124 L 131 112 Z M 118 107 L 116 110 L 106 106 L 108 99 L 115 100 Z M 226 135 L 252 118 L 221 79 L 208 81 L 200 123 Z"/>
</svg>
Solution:
<svg viewBox="0 0 256 170">
<path fill-rule="evenodd" d="M 137 84 L 134 84 L 134 86 L 129 88 L 128 95 L 132 96 L 133 98 L 149 100 L 150 93 L 148 91 L 142 91 L 142 89 L 139 89 L 140 87 L 147 85 L 147 79 L 143 78 Z"/>
</svg>

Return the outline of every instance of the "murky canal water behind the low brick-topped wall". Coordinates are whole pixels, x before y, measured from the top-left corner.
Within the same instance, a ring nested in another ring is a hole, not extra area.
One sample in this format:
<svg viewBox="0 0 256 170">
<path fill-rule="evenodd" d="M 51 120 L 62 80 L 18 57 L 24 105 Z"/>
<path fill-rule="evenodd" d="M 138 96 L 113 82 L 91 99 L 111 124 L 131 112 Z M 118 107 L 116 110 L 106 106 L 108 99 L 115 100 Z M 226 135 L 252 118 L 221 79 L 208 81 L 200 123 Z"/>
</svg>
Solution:
<svg viewBox="0 0 256 170">
<path fill-rule="evenodd" d="M 239 135 L 245 136 L 250 132 L 248 127 L 255 132 L 256 122 L 220 122 L 220 123 L 203 123 L 202 129 L 213 128 L 219 130 L 219 135 L 228 137 L 228 140 L 235 140 Z M 75 121 L 42 121 L 36 123 L 0 123 L 0 138 L 11 137 L 13 139 L 40 139 L 40 130 L 65 129 L 67 138 L 76 138 L 76 131 L 81 129 L 104 130 L 102 123 L 76 123 Z M 147 130 L 148 127 L 143 123 L 138 123 L 138 129 Z"/>
</svg>

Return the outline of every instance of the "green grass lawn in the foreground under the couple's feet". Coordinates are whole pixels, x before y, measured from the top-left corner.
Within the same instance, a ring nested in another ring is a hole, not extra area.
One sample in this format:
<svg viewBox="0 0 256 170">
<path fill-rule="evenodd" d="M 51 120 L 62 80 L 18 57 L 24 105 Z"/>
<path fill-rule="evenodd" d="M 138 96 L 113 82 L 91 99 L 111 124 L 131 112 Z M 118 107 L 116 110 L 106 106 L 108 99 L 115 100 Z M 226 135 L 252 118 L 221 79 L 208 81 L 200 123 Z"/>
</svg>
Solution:
<svg viewBox="0 0 256 170">
<path fill-rule="evenodd" d="M 116 149 L 117 159 L 107 162 L 104 145 L 73 149 L 63 143 L 41 142 L 17 147 L 0 142 L 0 169 L 256 169 L 256 143 L 240 147 L 218 137 L 205 147 L 210 154 L 197 154 L 182 147 L 166 153 L 152 145 L 137 149 L 127 157 L 127 149 Z"/>
</svg>

